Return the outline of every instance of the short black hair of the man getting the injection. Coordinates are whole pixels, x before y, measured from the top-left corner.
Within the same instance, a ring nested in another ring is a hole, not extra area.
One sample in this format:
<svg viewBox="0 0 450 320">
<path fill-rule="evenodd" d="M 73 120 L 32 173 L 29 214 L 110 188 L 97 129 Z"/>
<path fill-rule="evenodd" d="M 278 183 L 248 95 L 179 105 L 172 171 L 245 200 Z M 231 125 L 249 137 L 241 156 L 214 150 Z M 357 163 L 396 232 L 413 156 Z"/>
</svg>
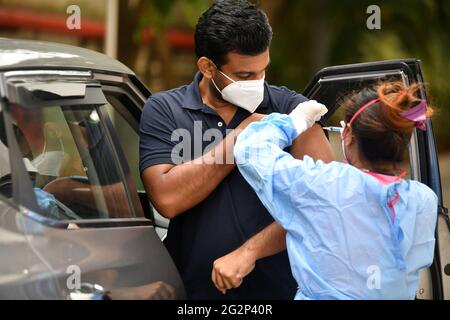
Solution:
<svg viewBox="0 0 450 320">
<path fill-rule="evenodd" d="M 197 57 L 226 64 L 229 52 L 263 53 L 270 46 L 272 28 L 266 14 L 246 0 L 219 0 L 205 11 L 195 29 Z"/>
</svg>

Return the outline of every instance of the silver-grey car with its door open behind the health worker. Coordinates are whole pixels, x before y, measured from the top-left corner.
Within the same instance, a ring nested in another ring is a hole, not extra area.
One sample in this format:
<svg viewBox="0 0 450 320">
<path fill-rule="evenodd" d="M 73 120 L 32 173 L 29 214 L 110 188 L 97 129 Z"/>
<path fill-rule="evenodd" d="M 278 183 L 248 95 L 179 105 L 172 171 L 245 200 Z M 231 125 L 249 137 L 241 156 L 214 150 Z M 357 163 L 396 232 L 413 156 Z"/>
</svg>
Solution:
<svg viewBox="0 0 450 320">
<path fill-rule="evenodd" d="M 323 125 L 335 126 L 339 97 L 382 79 L 422 83 L 420 62 L 325 68 L 303 94 L 327 105 Z M 149 96 L 100 53 L 0 39 L 0 299 L 185 298 L 162 243 L 169 221 L 139 177 Z M 450 222 L 429 128 L 413 135 L 404 163 L 440 201 L 435 260 L 417 298 L 450 299 Z M 339 150 L 338 136 L 329 139 Z"/>
</svg>

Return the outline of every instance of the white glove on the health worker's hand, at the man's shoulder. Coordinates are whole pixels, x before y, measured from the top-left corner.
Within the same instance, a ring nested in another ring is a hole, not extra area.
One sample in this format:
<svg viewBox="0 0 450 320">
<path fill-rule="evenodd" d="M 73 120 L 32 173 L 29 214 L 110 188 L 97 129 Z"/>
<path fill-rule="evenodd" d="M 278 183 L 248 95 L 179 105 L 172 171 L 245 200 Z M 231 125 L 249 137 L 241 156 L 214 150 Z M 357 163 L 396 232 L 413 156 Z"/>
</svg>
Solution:
<svg viewBox="0 0 450 320">
<path fill-rule="evenodd" d="M 327 112 L 328 109 L 323 104 L 318 103 L 316 100 L 309 100 L 300 103 L 292 110 L 289 116 L 292 118 L 292 122 L 300 135 L 311 128 Z"/>
</svg>

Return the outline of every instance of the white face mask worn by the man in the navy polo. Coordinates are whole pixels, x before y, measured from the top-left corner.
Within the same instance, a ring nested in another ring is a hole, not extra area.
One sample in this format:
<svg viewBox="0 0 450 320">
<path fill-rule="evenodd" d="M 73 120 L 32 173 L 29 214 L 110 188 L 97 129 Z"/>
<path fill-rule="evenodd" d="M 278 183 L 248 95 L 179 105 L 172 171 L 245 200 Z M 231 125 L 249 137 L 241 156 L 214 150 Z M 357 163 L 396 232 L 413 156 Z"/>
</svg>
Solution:
<svg viewBox="0 0 450 320">
<path fill-rule="evenodd" d="M 216 67 L 217 68 L 217 67 Z M 224 77 L 231 81 L 223 90 L 211 78 L 214 87 L 220 92 L 222 98 L 235 106 L 241 107 L 249 111 L 255 112 L 261 102 L 264 100 L 264 78 L 260 80 L 234 81 L 225 73 L 217 69 Z"/>
</svg>

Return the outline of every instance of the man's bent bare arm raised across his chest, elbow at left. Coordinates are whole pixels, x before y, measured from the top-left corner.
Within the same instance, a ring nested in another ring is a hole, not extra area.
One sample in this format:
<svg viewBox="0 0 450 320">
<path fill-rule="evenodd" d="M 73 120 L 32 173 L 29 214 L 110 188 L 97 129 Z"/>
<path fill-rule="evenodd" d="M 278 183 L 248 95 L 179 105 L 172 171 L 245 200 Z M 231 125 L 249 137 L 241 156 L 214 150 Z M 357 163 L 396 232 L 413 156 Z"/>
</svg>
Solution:
<svg viewBox="0 0 450 320">
<path fill-rule="evenodd" d="M 194 207 L 208 197 L 236 167 L 233 148 L 240 131 L 264 115 L 253 114 L 202 157 L 180 165 L 161 164 L 142 173 L 145 190 L 166 218 Z"/>
</svg>

